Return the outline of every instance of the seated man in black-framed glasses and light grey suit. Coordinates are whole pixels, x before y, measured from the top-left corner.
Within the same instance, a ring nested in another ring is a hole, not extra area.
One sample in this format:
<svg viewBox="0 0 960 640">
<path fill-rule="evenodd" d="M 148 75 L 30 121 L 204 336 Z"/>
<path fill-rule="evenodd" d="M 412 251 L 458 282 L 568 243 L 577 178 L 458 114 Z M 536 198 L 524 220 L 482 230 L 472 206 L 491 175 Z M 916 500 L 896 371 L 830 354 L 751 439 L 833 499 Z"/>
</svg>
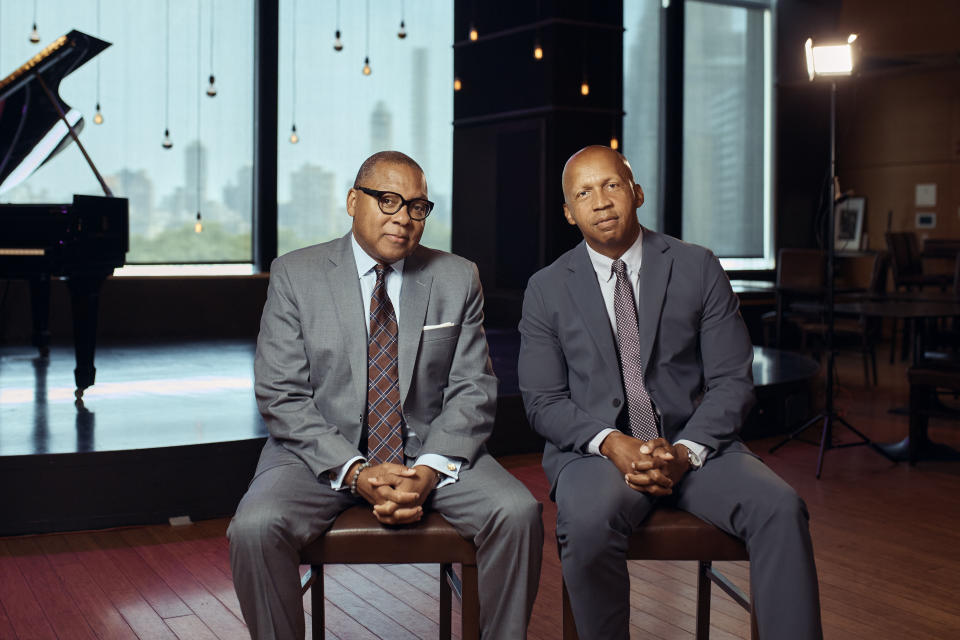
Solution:
<svg viewBox="0 0 960 640">
<path fill-rule="evenodd" d="M 483 295 L 475 265 L 419 245 L 432 208 L 416 162 L 374 154 L 351 233 L 271 267 L 254 364 L 270 437 L 227 531 L 254 638 L 303 637 L 300 549 L 356 504 L 390 525 L 440 512 L 477 545 L 483 637 L 526 635 L 540 505 L 484 447 Z"/>
</svg>

